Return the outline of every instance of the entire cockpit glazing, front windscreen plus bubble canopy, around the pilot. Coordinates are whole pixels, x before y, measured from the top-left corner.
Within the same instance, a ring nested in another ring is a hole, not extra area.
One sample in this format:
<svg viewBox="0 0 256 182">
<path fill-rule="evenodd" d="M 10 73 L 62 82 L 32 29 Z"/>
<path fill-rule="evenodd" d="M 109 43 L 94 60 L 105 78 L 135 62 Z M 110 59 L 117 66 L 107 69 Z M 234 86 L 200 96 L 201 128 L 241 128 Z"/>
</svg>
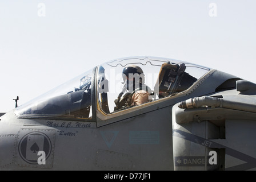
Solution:
<svg viewBox="0 0 256 182">
<path fill-rule="evenodd" d="M 99 108 L 95 106 L 95 109 L 101 109 L 105 114 L 129 109 L 131 105 L 127 104 L 127 100 L 124 101 L 124 97 L 128 97 L 129 90 L 126 89 L 123 81 L 122 71 L 130 65 L 142 69 L 143 84 L 146 85 L 146 92 L 150 95 L 150 102 L 183 92 L 210 71 L 210 68 L 159 57 L 128 57 L 112 60 L 17 107 L 15 114 L 21 118 L 91 119 L 94 104 L 99 106 Z M 129 95 L 130 100 L 131 95 Z M 118 104 L 117 98 L 119 98 Z"/>
</svg>

